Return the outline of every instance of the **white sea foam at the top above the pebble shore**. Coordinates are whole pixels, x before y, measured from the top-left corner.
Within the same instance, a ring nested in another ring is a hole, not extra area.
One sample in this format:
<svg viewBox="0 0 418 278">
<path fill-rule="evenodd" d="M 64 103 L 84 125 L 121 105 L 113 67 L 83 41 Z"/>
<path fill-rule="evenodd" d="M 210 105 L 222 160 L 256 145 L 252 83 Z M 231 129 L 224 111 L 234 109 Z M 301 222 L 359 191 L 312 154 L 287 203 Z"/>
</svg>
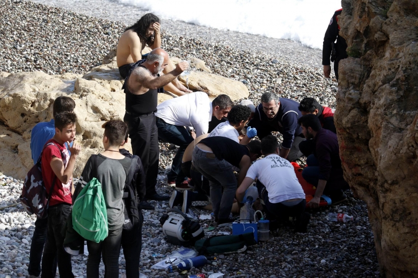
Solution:
<svg viewBox="0 0 418 278">
<path fill-rule="evenodd" d="M 322 49 L 340 0 L 118 0 L 162 19 L 278 39 Z"/>
</svg>

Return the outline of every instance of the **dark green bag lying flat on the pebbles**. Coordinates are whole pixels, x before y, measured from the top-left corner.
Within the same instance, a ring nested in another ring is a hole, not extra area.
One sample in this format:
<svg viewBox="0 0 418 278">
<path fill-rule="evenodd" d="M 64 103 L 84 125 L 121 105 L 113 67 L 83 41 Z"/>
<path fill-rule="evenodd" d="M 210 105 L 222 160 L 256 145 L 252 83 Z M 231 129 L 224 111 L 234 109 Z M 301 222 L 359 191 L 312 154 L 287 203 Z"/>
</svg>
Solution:
<svg viewBox="0 0 418 278">
<path fill-rule="evenodd" d="M 254 233 L 240 235 L 220 235 L 211 238 L 203 238 L 196 241 L 194 247 L 199 255 L 203 254 L 226 254 L 240 253 L 247 249 L 247 246 L 256 245 Z"/>
</svg>

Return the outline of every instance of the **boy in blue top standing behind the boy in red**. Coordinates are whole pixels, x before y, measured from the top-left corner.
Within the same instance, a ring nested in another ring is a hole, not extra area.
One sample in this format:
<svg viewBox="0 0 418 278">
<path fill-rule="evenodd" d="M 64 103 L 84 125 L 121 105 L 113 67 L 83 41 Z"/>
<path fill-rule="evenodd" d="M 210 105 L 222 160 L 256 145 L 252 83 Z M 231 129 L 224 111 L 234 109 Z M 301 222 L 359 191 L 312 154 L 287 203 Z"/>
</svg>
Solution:
<svg viewBox="0 0 418 278">
<path fill-rule="evenodd" d="M 55 99 L 53 104 L 53 116 L 55 117 L 60 112 L 72 112 L 75 108 L 75 102 L 72 98 L 66 96 L 59 96 Z M 42 149 L 45 143 L 52 139 L 55 135 L 54 118 L 49 122 L 37 123 L 30 133 L 30 151 L 32 154 L 33 164 L 36 164 L 41 156 Z M 67 143 L 65 142 L 67 147 Z M 70 143 L 72 146 L 72 142 Z M 68 154 L 71 153 L 68 151 Z M 40 219 L 36 217 L 35 230 L 33 231 L 32 241 L 30 243 L 29 253 L 29 267 L 28 273 L 31 277 L 38 277 L 41 274 L 41 258 L 42 251 L 47 237 L 48 218 Z M 57 258 L 54 259 L 53 269 L 57 270 Z M 54 272 L 55 273 L 55 272 Z M 55 276 L 55 275 L 54 275 Z"/>
</svg>

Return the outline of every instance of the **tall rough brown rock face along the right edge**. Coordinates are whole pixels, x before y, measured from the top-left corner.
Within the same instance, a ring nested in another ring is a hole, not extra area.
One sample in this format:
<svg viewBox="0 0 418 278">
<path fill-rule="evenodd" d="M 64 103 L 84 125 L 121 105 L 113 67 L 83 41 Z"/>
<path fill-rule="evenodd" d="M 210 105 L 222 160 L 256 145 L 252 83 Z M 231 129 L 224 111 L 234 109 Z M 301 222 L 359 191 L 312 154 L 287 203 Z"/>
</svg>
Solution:
<svg viewBox="0 0 418 278">
<path fill-rule="evenodd" d="M 418 1 L 343 0 L 335 124 L 383 277 L 418 277 Z"/>
</svg>

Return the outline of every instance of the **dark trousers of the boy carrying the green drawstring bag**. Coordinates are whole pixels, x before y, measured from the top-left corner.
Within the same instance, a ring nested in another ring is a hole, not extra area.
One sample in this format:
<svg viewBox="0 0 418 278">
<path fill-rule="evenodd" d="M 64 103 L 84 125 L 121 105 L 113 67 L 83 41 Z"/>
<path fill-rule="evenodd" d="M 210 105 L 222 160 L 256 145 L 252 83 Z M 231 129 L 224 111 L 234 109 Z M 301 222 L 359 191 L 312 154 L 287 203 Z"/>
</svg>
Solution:
<svg viewBox="0 0 418 278">
<path fill-rule="evenodd" d="M 87 250 L 89 250 L 89 259 L 87 260 L 88 278 L 99 278 L 99 264 L 102 254 L 103 264 L 105 265 L 105 277 L 119 277 L 119 253 L 121 238 L 122 227 L 117 230 L 109 230 L 107 238 L 99 243 L 90 240 L 87 241 Z"/>
</svg>

